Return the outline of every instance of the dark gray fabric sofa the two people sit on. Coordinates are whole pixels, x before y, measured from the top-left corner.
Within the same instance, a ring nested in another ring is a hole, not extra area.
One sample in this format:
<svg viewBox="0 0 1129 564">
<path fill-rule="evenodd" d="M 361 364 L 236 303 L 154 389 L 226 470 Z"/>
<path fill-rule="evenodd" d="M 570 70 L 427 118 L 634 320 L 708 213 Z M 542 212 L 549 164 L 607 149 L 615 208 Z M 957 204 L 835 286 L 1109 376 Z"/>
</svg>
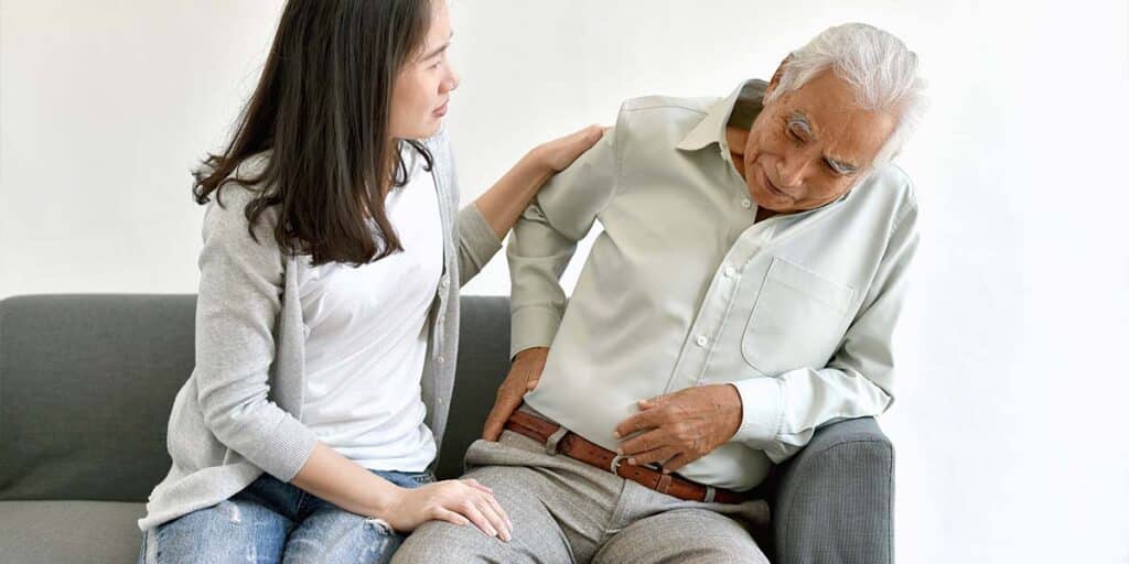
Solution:
<svg viewBox="0 0 1129 564">
<path fill-rule="evenodd" d="M 135 562 L 165 428 L 193 364 L 194 296 L 0 300 L 0 562 Z M 505 377 L 506 298 L 463 298 L 458 381 L 437 474 L 462 456 Z M 893 556 L 893 448 L 874 420 L 820 430 L 759 492 L 773 562 Z"/>
</svg>

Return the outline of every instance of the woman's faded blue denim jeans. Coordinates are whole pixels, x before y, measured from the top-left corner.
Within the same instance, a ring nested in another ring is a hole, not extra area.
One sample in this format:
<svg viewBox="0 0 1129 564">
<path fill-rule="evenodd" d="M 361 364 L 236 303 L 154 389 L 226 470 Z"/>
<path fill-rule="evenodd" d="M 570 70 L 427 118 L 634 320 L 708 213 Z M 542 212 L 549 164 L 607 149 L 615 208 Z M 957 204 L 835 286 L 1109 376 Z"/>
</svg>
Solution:
<svg viewBox="0 0 1129 564">
<path fill-rule="evenodd" d="M 401 487 L 430 474 L 371 470 Z M 404 536 L 263 474 L 229 500 L 148 532 L 139 563 L 385 563 Z"/>
</svg>

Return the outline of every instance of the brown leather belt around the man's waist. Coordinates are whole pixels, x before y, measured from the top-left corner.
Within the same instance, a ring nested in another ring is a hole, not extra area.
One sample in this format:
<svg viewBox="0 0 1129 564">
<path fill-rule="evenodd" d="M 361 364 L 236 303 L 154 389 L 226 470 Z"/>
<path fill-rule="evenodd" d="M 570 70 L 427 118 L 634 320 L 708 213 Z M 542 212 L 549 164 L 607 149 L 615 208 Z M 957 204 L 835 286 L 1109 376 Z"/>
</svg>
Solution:
<svg viewBox="0 0 1129 564">
<path fill-rule="evenodd" d="M 741 503 L 745 494 L 721 487 L 704 486 L 697 482 L 663 474 L 645 466 L 632 466 L 627 458 L 612 452 L 585 438 L 525 412 L 514 412 L 506 422 L 506 429 L 546 444 L 552 452 L 551 441 L 555 440 L 555 451 L 584 464 L 602 468 L 616 476 L 642 484 L 656 492 L 673 495 L 680 500 Z M 623 462 L 623 464 L 621 464 Z"/>
</svg>

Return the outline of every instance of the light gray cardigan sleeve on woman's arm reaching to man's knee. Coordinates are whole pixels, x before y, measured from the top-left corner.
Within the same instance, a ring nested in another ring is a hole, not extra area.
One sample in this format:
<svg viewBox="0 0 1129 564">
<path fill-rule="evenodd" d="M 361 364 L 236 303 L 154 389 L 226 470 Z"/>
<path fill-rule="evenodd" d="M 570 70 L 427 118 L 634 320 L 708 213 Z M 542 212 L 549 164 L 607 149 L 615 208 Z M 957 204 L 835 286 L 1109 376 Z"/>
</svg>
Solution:
<svg viewBox="0 0 1129 564">
<path fill-rule="evenodd" d="M 203 222 L 196 301 L 195 378 L 204 424 L 255 466 L 290 482 L 313 455 L 307 426 L 268 399 L 273 329 L 281 309 L 285 265 L 274 240 L 277 210 L 268 209 L 252 240 L 244 206 L 254 193 L 229 184 Z M 220 195 L 217 193 L 217 196 Z"/>
</svg>

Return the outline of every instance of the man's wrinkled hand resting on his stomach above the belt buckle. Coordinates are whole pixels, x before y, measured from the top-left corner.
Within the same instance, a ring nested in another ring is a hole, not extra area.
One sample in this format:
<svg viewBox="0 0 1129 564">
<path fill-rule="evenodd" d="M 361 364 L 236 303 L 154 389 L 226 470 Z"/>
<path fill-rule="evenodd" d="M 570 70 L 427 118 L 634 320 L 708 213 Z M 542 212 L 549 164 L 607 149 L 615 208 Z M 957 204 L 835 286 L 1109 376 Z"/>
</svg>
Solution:
<svg viewBox="0 0 1129 564">
<path fill-rule="evenodd" d="M 741 395 L 728 384 L 644 399 L 639 409 L 615 426 L 615 438 L 621 439 L 618 452 L 630 465 L 659 464 L 664 473 L 728 442 L 742 420 Z"/>
</svg>

